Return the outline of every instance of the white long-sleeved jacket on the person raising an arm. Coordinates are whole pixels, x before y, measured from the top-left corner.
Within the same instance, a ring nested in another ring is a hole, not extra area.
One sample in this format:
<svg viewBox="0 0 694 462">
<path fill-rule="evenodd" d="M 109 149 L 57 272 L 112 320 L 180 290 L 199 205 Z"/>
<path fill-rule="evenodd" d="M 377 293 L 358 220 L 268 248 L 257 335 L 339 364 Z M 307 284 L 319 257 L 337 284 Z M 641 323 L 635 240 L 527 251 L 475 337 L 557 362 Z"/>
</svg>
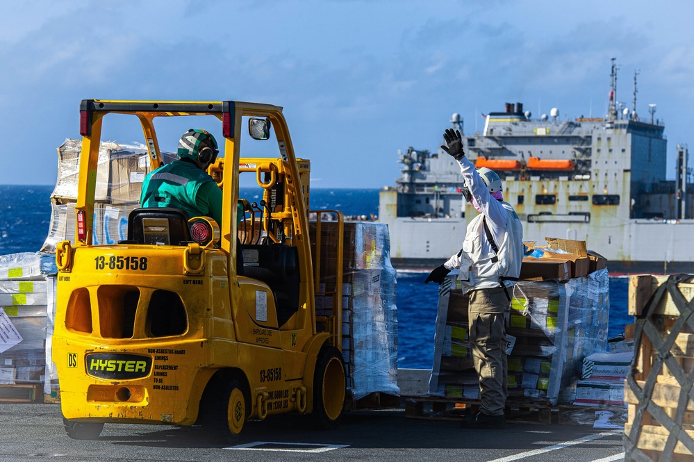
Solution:
<svg viewBox="0 0 694 462">
<path fill-rule="evenodd" d="M 465 233 L 463 248 L 444 264 L 458 268 L 463 293 L 472 289 L 510 287 L 520 276 L 523 261 L 523 227 L 511 204 L 492 197 L 487 185 L 467 157 L 458 161 L 461 174 L 481 213 L 472 219 Z M 486 221 L 498 247 L 495 253 L 484 231 Z M 502 279 L 510 278 L 510 279 Z"/>
</svg>

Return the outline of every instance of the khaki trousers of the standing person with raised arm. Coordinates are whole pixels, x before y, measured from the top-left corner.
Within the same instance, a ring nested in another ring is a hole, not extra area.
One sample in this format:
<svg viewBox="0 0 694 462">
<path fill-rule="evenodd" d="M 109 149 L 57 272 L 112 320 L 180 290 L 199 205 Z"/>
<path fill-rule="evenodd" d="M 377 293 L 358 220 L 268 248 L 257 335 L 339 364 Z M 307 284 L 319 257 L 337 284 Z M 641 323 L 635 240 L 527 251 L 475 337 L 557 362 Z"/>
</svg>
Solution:
<svg viewBox="0 0 694 462">
<path fill-rule="evenodd" d="M 510 308 L 511 302 L 503 288 L 470 292 L 472 362 L 479 377 L 480 411 L 489 415 L 503 415 L 506 407 L 505 317 Z"/>
</svg>

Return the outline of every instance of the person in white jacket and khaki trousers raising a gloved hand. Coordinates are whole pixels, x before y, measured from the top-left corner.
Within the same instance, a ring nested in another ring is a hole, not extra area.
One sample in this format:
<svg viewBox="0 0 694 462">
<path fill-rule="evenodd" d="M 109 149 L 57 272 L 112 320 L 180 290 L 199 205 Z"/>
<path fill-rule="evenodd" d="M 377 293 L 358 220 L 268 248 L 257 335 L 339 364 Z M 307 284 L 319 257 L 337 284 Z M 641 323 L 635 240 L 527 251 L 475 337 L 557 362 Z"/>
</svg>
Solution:
<svg viewBox="0 0 694 462">
<path fill-rule="evenodd" d="M 470 295 L 470 349 L 479 377 L 479 413 L 466 416 L 463 428 L 503 428 L 506 423 L 506 312 L 523 260 L 523 229 L 513 207 L 503 201 L 502 182 L 492 170 L 465 157 L 459 131 L 446 130 L 441 149 L 456 158 L 465 181 L 463 195 L 479 211 L 468 225 L 463 248 L 429 274 L 441 283 L 459 270 L 463 293 Z"/>
</svg>

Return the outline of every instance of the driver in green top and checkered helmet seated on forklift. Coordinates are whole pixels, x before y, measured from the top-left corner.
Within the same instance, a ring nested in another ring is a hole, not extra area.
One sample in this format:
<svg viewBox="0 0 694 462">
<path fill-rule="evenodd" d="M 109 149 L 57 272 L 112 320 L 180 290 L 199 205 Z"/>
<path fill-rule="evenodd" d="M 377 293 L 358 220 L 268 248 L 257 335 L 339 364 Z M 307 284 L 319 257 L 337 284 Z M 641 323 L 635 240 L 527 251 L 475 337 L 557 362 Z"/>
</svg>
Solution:
<svg viewBox="0 0 694 462">
<path fill-rule="evenodd" d="M 217 140 L 205 130 L 183 133 L 178 160 L 149 172 L 142 183 L 142 207 L 173 207 L 189 217 L 207 215 L 222 224 L 222 190 L 206 169 L 219 154 Z"/>
</svg>

